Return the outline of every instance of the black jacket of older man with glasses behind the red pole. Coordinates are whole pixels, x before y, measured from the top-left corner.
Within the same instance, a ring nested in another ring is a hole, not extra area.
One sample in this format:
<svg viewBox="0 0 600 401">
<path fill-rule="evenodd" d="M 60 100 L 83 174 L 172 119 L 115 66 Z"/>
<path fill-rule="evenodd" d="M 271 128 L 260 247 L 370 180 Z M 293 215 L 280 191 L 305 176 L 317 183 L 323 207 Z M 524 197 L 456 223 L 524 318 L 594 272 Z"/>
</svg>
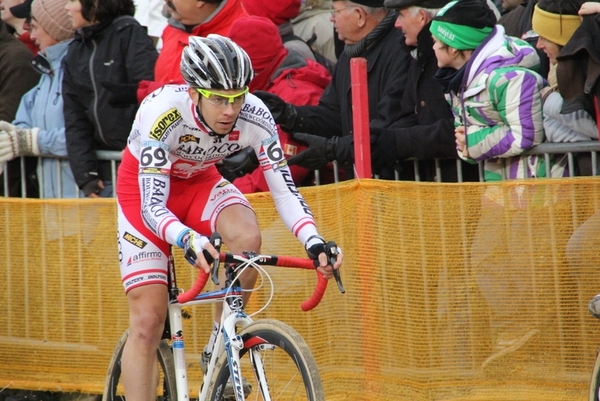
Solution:
<svg viewBox="0 0 600 401">
<path fill-rule="evenodd" d="M 387 27 L 385 34 L 359 57 L 367 60 L 369 120 L 387 127 L 400 115 L 400 96 L 406 83 L 410 55 L 401 46 L 403 34 Z M 344 51 L 335 65 L 331 83 L 317 106 L 297 107 L 294 131 L 323 137 L 352 135 L 350 57 Z"/>
</svg>

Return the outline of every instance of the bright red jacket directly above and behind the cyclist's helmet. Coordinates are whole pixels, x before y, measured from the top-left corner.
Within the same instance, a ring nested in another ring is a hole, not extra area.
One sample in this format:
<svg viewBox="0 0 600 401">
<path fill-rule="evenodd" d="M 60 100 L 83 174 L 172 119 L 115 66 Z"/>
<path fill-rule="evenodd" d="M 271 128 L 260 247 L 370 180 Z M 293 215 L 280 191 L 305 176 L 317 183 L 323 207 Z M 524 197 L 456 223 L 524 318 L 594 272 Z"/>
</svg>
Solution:
<svg viewBox="0 0 600 401">
<path fill-rule="evenodd" d="M 157 82 L 182 82 L 179 63 L 181 62 L 181 52 L 188 45 L 190 36 L 206 37 L 209 33 L 227 36 L 233 21 L 248 16 L 241 0 L 225 0 L 223 3 L 225 4 L 221 11 L 211 20 L 196 26 L 192 32 L 188 33 L 171 25 L 165 28 L 162 34 L 162 49 L 154 69 L 154 79 Z"/>
</svg>

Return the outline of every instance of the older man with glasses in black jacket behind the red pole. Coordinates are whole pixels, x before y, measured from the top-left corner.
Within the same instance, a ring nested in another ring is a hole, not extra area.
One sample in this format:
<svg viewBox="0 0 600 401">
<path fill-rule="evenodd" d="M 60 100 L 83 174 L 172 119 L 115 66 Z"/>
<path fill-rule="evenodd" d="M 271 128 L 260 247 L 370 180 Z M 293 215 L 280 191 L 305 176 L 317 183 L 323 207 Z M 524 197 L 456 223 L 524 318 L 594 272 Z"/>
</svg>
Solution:
<svg viewBox="0 0 600 401">
<path fill-rule="evenodd" d="M 257 91 L 275 121 L 309 148 L 290 158 L 290 164 L 319 169 L 332 160 L 350 166 L 353 156 L 350 59 L 367 60 L 370 126 L 388 127 L 401 115 L 400 99 L 410 56 L 401 46 L 402 33 L 394 28 L 396 12 L 383 7 L 383 0 L 333 2 L 331 20 L 345 42 L 331 83 L 317 106 L 293 106 L 271 93 Z M 307 132 L 307 134 L 300 134 Z M 351 169 L 350 169 L 351 170 Z M 347 171 L 347 177 L 350 177 Z"/>
</svg>

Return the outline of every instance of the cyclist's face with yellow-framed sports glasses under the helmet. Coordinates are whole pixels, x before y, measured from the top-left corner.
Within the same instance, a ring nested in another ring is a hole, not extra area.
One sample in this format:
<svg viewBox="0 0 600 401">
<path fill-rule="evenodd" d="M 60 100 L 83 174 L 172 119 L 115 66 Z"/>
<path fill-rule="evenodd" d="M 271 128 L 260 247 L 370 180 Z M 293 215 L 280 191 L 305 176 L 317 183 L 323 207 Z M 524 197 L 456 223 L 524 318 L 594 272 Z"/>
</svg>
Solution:
<svg viewBox="0 0 600 401">
<path fill-rule="evenodd" d="M 196 89 L 190 88 L 189 94 L 193 102 L 198 105 L 204 121 L 215 133 L 227 135 L 231 132 L 244 104 L 245 94 L 242 94 L 242 91 L 239 89 L 211 89 L 210 94 L 206 97 Z M 219 94 L 239 96 L 229 101 L 228 98 L 220 97 Z"/>
</svg>

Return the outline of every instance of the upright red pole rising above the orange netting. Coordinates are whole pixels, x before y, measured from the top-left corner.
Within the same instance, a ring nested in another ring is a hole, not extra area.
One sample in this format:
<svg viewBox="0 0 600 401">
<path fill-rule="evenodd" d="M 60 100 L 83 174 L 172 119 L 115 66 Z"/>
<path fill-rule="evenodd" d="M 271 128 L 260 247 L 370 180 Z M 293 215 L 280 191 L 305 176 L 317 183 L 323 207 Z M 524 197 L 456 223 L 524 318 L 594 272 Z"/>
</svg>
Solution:
<svg viewBox="0 0 600 401">
<path fill-rule="evenodd" d="M 357 178 L 371 178 L 371 142 L 369 132 L 369 94 L 367 91 L 367 60 L 350 60 L 352 90 L 352 129 L 354 135 L 354 166 Z"/>
</svg>

